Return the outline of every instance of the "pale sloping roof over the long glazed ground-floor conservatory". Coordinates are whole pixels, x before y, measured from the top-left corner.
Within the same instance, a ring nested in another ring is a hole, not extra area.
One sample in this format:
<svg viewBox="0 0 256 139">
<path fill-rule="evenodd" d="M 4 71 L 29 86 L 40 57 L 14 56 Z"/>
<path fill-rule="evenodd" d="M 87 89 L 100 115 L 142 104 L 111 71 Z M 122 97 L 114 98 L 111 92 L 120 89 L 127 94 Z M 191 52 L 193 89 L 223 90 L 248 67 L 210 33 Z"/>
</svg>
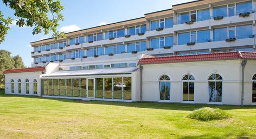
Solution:
<svg viewBox="0 0 256 139">
<path fill-rule="evenodd" d="M 116 75 L 116 74 L 131 74 L 136 71 L 137 67 L 126 68 L 107 68 L 107 69 L 94 69 L 94 70 L 74 70 L 74 71 L 57 71 L 50 74 L 43 74 L 42 78 L 49 77 L 74 77 L 85 75 Z"/>
</svg>

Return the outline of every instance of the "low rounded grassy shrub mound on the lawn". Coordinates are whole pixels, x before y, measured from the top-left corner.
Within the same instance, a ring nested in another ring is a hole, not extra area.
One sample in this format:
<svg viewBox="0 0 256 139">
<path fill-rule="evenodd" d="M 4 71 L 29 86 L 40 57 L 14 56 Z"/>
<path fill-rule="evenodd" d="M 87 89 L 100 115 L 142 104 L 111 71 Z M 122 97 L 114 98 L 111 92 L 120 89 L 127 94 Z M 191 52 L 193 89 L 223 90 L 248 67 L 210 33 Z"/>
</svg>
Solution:
<svg viewBox="0 0 256 139">
<path fill-rule="evenodd" d="M 196 119 L 200 121 L 211 121 L 227 119 L 228 117 L 231 117 L 231 115 L 229 115 L 224 110 L 221 110 L 219 108 L 203 107 L 200 109 L 195 109 L 187 117 L 189 117 L 190 119 Z"/>
</svg>

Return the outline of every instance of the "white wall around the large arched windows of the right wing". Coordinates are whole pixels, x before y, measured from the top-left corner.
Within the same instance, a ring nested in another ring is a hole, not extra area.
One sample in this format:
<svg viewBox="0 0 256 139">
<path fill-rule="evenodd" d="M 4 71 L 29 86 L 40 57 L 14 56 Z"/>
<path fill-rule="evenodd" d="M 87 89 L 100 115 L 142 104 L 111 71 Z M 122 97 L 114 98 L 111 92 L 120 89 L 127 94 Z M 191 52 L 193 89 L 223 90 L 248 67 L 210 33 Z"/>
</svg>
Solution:
<svg viewBox="0 0 256 139">
<path fill-rule="evenodd" d="M 246 66 L 246 72 L 251 71 L 251 73 L 247 72 L 246 80 L 248 80 L 248 78 L 252 78 L 253 72 L 256 73 L 256 62 Z M 171 99 L 169 102 L 182 102 L 182 77 L 187 73 L 195 77 L 195 103 L 209 103 L 207 80 L 210 74 L 219 73 L 223 78 L 221 104 L 241 104 L 241 60 L 143 65 L 143 101 L 159 101 L 158 79 L 161 75 L 167 74 L 171 79 Z M 251 99 L 249 97 L 252 97 L 252 87 L 247 85 L 246 90 L 248 90 L 246 94 L 250 95 L 246 95 L 245 101 L 248 103 L 247 101 Z"/>
</svg>

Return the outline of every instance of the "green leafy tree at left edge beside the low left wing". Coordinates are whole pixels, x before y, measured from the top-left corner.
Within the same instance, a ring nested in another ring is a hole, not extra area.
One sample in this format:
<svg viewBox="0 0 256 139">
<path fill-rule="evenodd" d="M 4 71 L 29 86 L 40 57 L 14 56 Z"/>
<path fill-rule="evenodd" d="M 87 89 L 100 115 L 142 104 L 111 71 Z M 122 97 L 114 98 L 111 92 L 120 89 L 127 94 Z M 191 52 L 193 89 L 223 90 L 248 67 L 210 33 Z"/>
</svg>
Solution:
<svg viewBox="0 0 256 139">
<path fill-rule="evenodd" d="M 14 59 L 11 58 L 11 53 L 7 50 L 0 50 L 0 85 L 4 84 L 5 70 L 14 68 Z"/>
</svg>

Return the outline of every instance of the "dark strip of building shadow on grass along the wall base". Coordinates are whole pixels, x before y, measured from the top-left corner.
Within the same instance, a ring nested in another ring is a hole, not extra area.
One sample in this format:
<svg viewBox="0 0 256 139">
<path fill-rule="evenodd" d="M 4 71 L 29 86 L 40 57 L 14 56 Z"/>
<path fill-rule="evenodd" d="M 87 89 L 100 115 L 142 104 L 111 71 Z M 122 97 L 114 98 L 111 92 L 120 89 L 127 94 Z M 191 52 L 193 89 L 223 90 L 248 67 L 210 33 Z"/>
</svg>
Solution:
<svg viewBox="0 0 256 139">
<path fill-rule="evenodd" d="M 59 99 L 59 98 L 43 98 L 41 96 L 29 96 L 29 95 L 15 95 L 15 94 L 4 94 L 0 92 L 1 97 L 21 97 L 21 98 L 33 98 L 33 99 L 46 99 L 56 100 L 69 103 L 84 103 L 93 105 L 110 105 L 110 106 L 121 106 L 121 107 L 135 107 L 135 108 L 149 108 L 149 109 L 167 109 L 167 110 L 188 110 L 202 107 L 220 108 L 223 110 L 230 109 L 256 109 L 256 106 L 232 106 L 232 105 L 205 105 L 205 104 L 188 104 L 188 103 L 161 103 L 161 102 L 116 102 L 116 101 L 82 101 L 75 99 Z"/>
</svg>

